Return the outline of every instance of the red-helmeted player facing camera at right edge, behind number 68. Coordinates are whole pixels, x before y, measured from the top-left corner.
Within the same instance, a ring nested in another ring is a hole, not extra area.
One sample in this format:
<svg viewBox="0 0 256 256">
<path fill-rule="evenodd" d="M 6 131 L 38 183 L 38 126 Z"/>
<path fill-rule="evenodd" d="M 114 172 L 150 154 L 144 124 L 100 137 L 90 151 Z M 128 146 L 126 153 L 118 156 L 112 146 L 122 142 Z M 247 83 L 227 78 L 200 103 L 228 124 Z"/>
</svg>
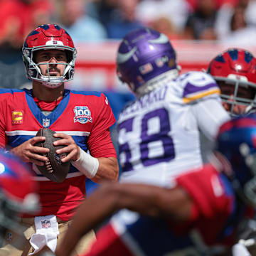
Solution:
<svg viewBox="0 0 256 256">
<path fill-rule="evenodd" d="M 220 87 L 223 107 L 231 117 L 256 110 L 256 59 L 248 50 L 229 48 L 210 61 L 208 73 Z M 256 220 L 240 230 L 240 236 L 256 233 Z"/>
</svg>

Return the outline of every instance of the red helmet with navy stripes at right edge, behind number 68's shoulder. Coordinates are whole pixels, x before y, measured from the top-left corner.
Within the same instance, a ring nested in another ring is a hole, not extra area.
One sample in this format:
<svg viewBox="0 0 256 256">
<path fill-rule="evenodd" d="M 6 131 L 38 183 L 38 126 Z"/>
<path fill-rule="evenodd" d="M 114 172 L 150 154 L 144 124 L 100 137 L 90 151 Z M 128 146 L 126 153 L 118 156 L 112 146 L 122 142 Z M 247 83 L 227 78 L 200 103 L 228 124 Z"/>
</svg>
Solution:
<svg viewBox="0 0 256 256">
<path fill-rule="evenodd" d="M 232 105 L 231 114 L 235 102 L 248 106 L 246 112 L 256 107 L 256 59 L 252 53 L 239 48 L 225 50 L 210 61 L 207 72 L 218 82 L 223 102 Z M 233 100 L 223 90 L 223 84 L 234 86 Z M 247 90 L 250 97 L 243 97 L 239 92 L 240 87 L 245 88 L 243 90 Z"/>
</svg>

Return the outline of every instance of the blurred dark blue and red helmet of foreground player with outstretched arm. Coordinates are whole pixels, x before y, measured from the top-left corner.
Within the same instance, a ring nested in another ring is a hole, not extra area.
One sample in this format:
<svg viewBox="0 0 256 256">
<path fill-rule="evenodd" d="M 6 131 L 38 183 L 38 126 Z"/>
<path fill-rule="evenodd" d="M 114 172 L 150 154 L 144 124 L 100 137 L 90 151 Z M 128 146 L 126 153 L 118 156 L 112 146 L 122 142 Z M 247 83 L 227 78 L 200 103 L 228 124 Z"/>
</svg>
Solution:
<svg viewBox="0 0 256 256">
<path fill-rule="evenodd" d="M 226 174 L 240 198 L 256 207 L 256 114 L 236 117 L 219 129 L 216 149 L 228 159 Z"/>
</svg>

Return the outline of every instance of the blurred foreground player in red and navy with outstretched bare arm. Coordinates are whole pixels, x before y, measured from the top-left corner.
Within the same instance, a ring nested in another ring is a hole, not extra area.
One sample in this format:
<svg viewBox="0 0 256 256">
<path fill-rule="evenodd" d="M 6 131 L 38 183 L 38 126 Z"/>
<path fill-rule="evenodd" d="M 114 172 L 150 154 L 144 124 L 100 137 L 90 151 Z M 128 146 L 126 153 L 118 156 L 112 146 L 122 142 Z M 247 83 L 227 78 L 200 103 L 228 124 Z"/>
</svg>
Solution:
<svg viewBox="0 0 256 256">
<path fill-rule="evenodd" d="M 168 186 L 106 183 L 98 188 L 80 206 L 56 255 L 69 255 L 84 233 L 113 213 L 86 256 L 230 252 L 240 225 L 256 207 L 256 115 L 225 122 L 216 142 L 210 164 L 171 178 Z M 249 255 L 243 254 L 248 244 L 235 245 L 233 255 Z"/>
</svg>

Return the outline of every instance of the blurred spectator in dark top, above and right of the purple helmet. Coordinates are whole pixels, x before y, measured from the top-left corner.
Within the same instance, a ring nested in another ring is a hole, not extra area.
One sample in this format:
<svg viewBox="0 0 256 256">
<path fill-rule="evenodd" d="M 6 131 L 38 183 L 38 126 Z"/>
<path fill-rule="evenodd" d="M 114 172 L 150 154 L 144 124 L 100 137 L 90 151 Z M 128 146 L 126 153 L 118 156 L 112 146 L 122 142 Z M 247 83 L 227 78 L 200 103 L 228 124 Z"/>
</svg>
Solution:
<svg viewBox="0 0 256 256">
<path fill-rule="evenodd" d="M 188 16 L 184 28 L 184 38 L 215 40 L 214 26 L 216 17 L 215 0 L 197 0 L 195 11 Z"/>
</svg>

